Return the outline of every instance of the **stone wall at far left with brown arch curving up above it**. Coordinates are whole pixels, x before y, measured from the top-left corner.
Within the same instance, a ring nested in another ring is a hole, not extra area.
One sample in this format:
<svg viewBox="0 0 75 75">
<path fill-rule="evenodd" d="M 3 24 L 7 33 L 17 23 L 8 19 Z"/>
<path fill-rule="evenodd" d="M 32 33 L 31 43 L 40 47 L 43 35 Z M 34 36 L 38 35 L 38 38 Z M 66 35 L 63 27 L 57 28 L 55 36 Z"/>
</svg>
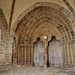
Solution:
<svg viewBox="0 0 75 75">
<path fill-rule="evenodd" d="M 0 9 L 0 72 L 3 69 L 6 69 L 11 64 L 11 44 L 9 41 L 8 25 L 3 14 L 3 11 Z"/>
</svg>

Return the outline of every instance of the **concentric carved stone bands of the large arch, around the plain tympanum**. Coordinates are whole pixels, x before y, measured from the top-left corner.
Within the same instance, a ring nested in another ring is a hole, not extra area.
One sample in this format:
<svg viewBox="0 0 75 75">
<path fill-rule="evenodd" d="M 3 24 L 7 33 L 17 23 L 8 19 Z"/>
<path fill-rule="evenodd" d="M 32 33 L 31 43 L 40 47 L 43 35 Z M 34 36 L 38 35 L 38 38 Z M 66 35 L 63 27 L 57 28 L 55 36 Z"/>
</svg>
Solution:
<svg viewBox="0 0 75 75">
<path fill-rule="evenodd" d="M 14 23 L 11 32 L 15 34 L 15 31 L 19 30 L 20 33 L 23 32 L 23 34 L 30 36 L 35 32 L 37 26 L 44 22 L 53 23 L 61 33 L 62 38 L 67 38 L 67 40 L 73 38 L 73 16 L 65 8 L 48 2 L 38 2 L 25 10 Z"/>
</svg>

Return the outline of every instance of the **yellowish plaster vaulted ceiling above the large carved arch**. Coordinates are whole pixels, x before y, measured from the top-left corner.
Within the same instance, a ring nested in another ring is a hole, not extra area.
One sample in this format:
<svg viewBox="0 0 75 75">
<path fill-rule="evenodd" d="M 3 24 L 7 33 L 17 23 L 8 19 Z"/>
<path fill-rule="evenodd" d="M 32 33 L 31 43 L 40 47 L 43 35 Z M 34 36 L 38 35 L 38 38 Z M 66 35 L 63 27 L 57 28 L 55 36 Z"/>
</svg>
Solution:
<svg viewBox="0 0 75 75">
<path fill-rule="evenodd" d="M 69 12 L 70 9 L 67 5 L 71 5 L 71 7 L 74 9 L 74 0 L 0 0 L 0 8 L 3 10 L 3 13 L 5 15 L 5 18 L 7 20 L 8 25 L 10 24 L 10 18 L 12 16 L 12 22 L 11 26 L 16 22 L 17 18 L 30 6 L 34 5 L 37 2 L 50 2 L 58 4 L 65 9 L 67 9 Z M 67 3 L 69 2 L 69 4 Z M 14 6 L 14 10 L 13 9 Z M 13 13 L 12 13 L 13 12 Z"/>
</svg>

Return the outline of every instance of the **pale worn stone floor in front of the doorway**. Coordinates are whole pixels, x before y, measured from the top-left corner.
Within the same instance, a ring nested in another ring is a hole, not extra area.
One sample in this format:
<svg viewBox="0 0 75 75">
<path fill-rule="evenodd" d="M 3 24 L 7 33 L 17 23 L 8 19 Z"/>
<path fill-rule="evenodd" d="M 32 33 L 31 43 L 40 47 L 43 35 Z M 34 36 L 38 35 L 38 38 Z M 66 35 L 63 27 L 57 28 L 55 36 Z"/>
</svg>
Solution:
<svg viewBox="0 0 75 75">
<path fill-rule="evenodd" d="M 75 70 L 43 67 L 16 67 L 0 73 L 0 75 L 75 75 Z"/>
</svg>

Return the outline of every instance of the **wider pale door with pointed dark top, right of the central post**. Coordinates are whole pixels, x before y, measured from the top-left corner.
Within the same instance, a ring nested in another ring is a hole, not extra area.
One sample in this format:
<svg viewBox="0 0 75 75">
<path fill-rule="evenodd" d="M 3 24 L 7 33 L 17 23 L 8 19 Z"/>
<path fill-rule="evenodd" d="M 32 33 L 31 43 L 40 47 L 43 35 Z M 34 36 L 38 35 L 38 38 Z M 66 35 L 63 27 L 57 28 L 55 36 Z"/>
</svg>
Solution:
<svg viewBox="0 0 75 75">
<path fill-rule="evenodd" d="M 48 46 L 49 65 L 50 67 L 62 66 L 62 46 L 60 42 L 56 40 L 55 36 L 52 36 Z"/>
</svg>

